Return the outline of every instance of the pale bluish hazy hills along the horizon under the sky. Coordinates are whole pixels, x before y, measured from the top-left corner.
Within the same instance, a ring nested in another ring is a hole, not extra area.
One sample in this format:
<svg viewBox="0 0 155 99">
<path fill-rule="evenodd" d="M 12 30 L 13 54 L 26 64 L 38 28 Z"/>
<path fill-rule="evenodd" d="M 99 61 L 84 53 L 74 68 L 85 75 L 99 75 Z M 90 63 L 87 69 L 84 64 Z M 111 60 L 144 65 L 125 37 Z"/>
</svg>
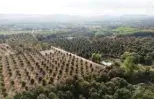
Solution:
<svg viewBox="0 0 155 99">
<path fill-rule="evenodd" d="M 90 21 L 130 21 L 130 20 L 154 20 L 147 15 L 123 15 L 123 16 L 95 16 L 82 17 L 70 15 L 24 15 L 24 14 L 0 14 L 0 24 L 4 23 L 33 23 L 33 22 L 90 22 Z"/>
</svg>

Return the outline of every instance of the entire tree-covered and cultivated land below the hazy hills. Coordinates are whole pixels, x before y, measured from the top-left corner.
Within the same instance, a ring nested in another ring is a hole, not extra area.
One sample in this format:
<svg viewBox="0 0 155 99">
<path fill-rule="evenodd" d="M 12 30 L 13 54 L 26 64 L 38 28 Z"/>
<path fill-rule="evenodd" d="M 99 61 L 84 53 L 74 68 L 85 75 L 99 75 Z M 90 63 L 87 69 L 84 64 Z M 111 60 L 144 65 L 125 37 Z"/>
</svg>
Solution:
<svg viewBox="0 0 155 99">
<path fill-rule="evenodd" d="M 0 99 L 153 99 L 152 20 L 0 24 Z"/>
</svg>

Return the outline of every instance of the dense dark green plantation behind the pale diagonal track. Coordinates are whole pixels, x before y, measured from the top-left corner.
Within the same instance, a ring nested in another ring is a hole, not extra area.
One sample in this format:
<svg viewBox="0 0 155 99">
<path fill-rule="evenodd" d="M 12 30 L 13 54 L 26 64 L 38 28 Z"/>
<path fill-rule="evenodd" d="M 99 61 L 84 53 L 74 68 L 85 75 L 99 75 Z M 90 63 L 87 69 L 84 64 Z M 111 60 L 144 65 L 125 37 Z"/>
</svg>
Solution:
<svg viewBox="0 0 155 99">
<path fill-rule="evenodd" d="M 90 59 L 93 53 L 98 52 L 101 53 L 102 57 L 120 58 L 125 51 L 128 51 L 137 53 L 141 64 L 152 65 L 154 60 L 152 37 L 53 39 L 51 43 L 87 59 Z"/>
</svg>

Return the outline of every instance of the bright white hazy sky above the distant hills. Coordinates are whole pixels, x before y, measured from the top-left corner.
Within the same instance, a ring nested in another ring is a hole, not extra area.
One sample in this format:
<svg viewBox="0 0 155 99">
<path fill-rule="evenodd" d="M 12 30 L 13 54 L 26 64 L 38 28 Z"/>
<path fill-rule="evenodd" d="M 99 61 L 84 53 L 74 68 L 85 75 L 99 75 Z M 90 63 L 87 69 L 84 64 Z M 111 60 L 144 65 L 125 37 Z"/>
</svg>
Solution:
<svg viewBox="0 0 155 99">
<path fill-rule="evenodd" d="M 0 0 L 0 14 L 152 15 L 154 0 Z"/>
</svg>

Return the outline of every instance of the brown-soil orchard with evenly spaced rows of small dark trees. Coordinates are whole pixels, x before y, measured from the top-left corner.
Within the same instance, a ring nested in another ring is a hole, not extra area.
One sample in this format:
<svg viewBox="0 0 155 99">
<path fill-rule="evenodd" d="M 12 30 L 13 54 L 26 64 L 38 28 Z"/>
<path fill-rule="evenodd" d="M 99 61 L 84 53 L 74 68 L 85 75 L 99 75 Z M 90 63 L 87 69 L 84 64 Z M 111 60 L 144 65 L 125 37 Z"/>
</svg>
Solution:
<svg viewBox="0 0 155 99">
<path fill-rule="evenodd" d="M 52 48 L 45 55 L 25 52 L 2 57 L 2 94 L 12 96 L 35 86 L 58 84 L 74 75 L 98 74 L 103 67 L 73 54 Z"/>
</svg>

